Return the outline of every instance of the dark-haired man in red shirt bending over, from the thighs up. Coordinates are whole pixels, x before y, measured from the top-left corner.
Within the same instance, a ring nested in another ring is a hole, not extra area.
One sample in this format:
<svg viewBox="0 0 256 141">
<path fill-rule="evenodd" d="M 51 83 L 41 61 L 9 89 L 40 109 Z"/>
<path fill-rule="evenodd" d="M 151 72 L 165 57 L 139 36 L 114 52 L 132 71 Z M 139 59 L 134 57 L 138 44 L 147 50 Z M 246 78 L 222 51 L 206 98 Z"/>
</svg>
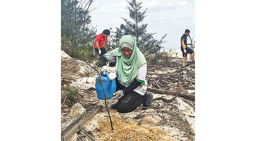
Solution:
<svg viewBox="0 0 256 141">
<path fill-rule="evenodd" d="M 108 45 L 111 49 L 110 45 L 108 44 L 108 35 L 110 31 L 105 29 L 102 33 L 98 34 L 94 43 L 94 50 L 99 56 L 103 56 L 103 54 L 107 53 L 105 47 L 103 47 L 104 43 Z M 113 49 L 113 48 L 112 48 Z"/>
</svg>

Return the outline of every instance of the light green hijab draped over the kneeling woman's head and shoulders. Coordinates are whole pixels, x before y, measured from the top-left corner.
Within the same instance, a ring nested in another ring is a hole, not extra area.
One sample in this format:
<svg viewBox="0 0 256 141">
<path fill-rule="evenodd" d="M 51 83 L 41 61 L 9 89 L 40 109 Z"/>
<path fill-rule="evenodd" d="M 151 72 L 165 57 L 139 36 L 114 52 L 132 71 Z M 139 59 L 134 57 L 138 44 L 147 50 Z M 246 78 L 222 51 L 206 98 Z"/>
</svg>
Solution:
<svg viewBox="0 0 256 141">
<path fill-rule="evenodd" d="M 128 44 L 126 44 L 128 43 Z M 126 58 L 121 49 L 127 47 L 132 50 L 130 58 Z M 144 55 L 137 48 L 136 41 L 131 35 L 124 35 L 119 41 L 119 47 L 105 54 L 106 56 L 117 56 L 117 73 L 122 83 L 128 85 L 138 74 L 138 69 L 147 63 Z"/>
</svg>

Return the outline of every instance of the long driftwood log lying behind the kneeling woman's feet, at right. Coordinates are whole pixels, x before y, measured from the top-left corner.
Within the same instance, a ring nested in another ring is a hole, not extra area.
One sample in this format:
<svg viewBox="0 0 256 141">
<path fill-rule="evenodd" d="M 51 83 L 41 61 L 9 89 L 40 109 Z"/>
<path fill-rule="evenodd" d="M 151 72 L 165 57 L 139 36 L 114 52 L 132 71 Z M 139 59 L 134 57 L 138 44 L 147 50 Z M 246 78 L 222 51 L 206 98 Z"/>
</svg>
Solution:
<svg viewBox="0 0 256 141">
<path fill-rule="evenodd" d="M 169 90 L 159 90 L 159 89 L 154 89 L 154 88 L 147 88 L 148 92 L 154 92 L 156 94 L 166 94 L 166 95 L 171 95 L 171 96 L 176 96 L 179 92 L 177 91 L 169 91 Z M 181 92 L 179 94 L 179 97 L 185 98 L 190 101 L 195 101 L 195 95 L 194 94 L 186 94 L 184 92 Z"/>
</svg>

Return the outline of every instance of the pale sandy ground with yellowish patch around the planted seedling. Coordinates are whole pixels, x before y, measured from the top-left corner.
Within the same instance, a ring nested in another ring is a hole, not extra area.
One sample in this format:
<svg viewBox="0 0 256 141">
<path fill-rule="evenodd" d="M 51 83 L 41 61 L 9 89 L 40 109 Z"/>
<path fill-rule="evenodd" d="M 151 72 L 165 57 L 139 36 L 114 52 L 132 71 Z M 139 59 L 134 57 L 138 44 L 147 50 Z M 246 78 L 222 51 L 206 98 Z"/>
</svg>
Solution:
<svg viewBox="0 0 256 141">
<path fill-rule="evenodd" d="M 176 57 L 176 53 L 169 55 Z M 174 56 L 175 55 L 175 56 Z M 177 53 L 178 58 L 182 58 L 181 51 Z M 180 60 L 179 60 L 180 61 Z M 189 61 L 189 60 L 187 60 Z M 110 67 L 110 69 L 115 72 L 115 67 Z M 167 71 L 168 72 L 168 71 Z M 172 72 L 172 71 L 169 71 Z M 163 71 L 156 71 L 156 74 L 163 74 Z M 152 107 L 147 110 L 141 110 L 141 106 L 136 108 L 130 113 L 118 113 L 116 110 L 110 110 L 111 119 L 113 122 L 114 130 L 111 131 L 111 126 L 109 122 L 108 112 L 106 111 L 104 100 L 96 98 L 84 92 L 89 88 L 95 88 L 95 80 L 97 76 L 82 77 L 72 80 L 70 87 L 78 89 L 78 92 L 83 95 L 83 98 L 79 99 L 79 103 L 86 105 L 102 105 L 104 108 L 102 111 L 98 112 L 93 116 L 87 123 L 83 125 L 83 128 L 87 131 L 91 131 L 93 137 L 96 141 L 126 141 L 126 140 L 139 140 L 139 141 L 191 141 L 191 136 L 189 136 L 182 128 L 179 128 L 177 123 L 174 122 L 173 116 L 164 112 L 160 112 L 157 108 L 162 107 L 169 108 L 171 105 L 178 107 L 180 112 L 186 118 L 189 126 L 193 133 L 195 133 L 195 109 L 185 103 L 182 99 L 177 97 L 172 103 L 164 103 L 163 101 L 152 102 Z M 96 91 L 92 91 L 96 93 Z M 187 90 L 187 92 L 192 93 L 195 90 Z M 168 96 L 163 94 L 154 94 L 154 98 L 163 97 L 165 99 L 171 99 L 174 96 Z M 108 100 L 108 105 L 116 103 L 117 100 Z M 63 105 L 65 107 L 65 105 Z M 62 107 L 61 112 L 61 130 L 65 129 L 70 123 L 75 119 L 69 116 L 70 108 Z M 167 108 L 167 109 L 168 109 Z M 75 133 L 69 141 L 87 141 L 85 137 L 80 137 L 81 134 Z M 78 139 L 80 137 L 80 139 Z"/>
</svg>

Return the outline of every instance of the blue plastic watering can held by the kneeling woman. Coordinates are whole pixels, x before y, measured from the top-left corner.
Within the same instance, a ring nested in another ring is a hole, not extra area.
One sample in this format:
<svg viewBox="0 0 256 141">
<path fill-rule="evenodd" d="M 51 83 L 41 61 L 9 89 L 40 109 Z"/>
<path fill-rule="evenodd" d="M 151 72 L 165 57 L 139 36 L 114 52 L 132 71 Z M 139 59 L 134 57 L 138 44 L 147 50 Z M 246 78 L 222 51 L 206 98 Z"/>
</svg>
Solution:
<svg viewBox="0 0 256 141">
<path fill-rule="evenodd" d="M 115 79 L 110 80 L 108 77 L 107 71 L 106 71 L 106 75 L 104 75 L 102 73 L 100 73 L 100 74 L 101 74 L 100 77 L 98 76 L 98 78 L 96 78 L 96 85 L 95 85 L 98 99 L 105 99 L 102 87 L 99 83 L 100 78 L 102 81 L 102 86 L 103 86 L 103 89 L 104 89 L 104 92 L 106 95 L 106 99 L 113 98 L 114 97 L 113 93 L 116 92 L 116 90 L 117 90 L 117 85 L 115 83 Z"/>
</svg>

